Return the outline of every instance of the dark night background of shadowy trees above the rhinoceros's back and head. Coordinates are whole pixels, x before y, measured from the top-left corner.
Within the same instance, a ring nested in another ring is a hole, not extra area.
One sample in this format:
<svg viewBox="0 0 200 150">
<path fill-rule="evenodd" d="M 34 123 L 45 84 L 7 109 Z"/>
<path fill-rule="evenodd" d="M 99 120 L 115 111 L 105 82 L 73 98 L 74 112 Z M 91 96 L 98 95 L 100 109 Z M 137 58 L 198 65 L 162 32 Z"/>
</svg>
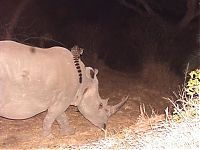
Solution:
<svg viewBox="0 0 200 150">
<path fill-rule="evenodd" d="M 198 1 L 192 1 L 198 13 Z M 100 59 L 122 71 L 140 71 L 154 61 L 183 73 L 199 55 L 199 17 L 183 21 L 186 0 L 146 0 L 150 11 L 140 2 L 0 0 L 0 38 L 40 47 L 77 44 L 85 49 L 86 62 Z"/>
</svg>

